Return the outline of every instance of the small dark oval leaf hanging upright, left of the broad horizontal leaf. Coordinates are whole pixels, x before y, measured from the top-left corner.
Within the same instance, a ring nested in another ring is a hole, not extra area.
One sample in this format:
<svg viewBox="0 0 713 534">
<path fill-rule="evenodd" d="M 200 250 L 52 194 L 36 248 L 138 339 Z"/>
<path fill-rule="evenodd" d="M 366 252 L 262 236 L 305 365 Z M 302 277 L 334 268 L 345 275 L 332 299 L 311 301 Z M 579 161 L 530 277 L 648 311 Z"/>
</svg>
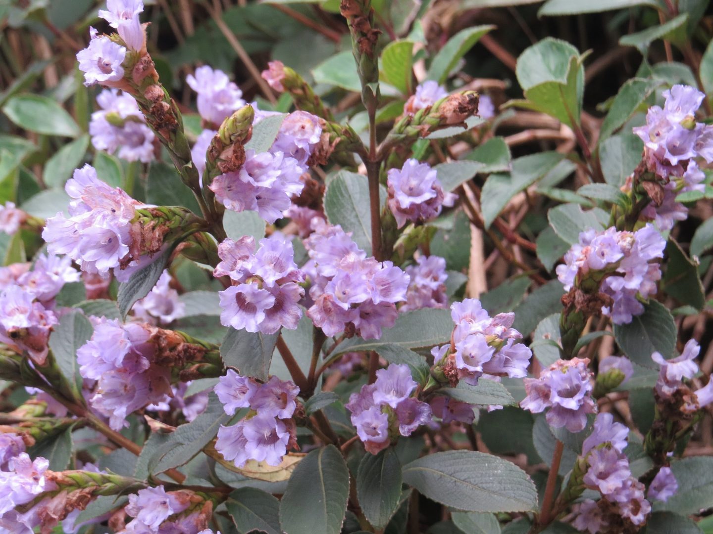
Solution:
<svg viewBox="0 0 713 534">
<path fill-rule="evenodd" d="M 384 528 L 401 501 L 401 464 L 394 449 L 364 454 L 356 472 L 356 496 L 366 519 Z"/>
</svg>

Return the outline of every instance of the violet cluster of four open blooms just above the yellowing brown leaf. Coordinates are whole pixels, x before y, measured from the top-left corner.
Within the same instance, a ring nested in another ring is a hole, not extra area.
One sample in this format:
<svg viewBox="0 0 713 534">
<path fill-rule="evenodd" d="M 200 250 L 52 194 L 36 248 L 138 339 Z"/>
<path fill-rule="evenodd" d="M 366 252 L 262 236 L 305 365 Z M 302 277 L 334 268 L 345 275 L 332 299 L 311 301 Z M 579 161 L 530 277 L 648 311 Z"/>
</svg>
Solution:
<svg viewBox="0 0 713 534">
<path fill-rule="evenodd" d="M 261 384 L 229 369 L 216 384 L 215 394 L 228 415 L 239 409 L 250 411 L 236 424 L 220 426 L 215 450 L 237 467 L 245 466 L 248 460 L 279 465 L 287 449 L 297 448 L 291 418 L 298 393 L 299 387 L 292 382 L 270 377 Z"/>
</svg>

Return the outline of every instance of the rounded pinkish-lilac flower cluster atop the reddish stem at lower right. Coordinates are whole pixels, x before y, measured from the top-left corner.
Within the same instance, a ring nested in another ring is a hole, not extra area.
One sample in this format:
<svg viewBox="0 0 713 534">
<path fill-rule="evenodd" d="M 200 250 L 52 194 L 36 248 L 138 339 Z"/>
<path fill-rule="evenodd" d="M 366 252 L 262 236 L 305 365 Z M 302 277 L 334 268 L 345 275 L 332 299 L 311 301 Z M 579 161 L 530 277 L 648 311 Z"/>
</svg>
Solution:
<svg viewBox="0 0 713 534">
<path fill-rule="evenodd" d="M 587 414 L 597 411 L 592 398 L 593 373 L 588 364 L 589 358 L 557 360 L 539 378 L 523 379 L 527 395 L 520 407 L 533 414 L 547 410 L 550 426 L 582 431 L 587 426 Z"/>
</svg>

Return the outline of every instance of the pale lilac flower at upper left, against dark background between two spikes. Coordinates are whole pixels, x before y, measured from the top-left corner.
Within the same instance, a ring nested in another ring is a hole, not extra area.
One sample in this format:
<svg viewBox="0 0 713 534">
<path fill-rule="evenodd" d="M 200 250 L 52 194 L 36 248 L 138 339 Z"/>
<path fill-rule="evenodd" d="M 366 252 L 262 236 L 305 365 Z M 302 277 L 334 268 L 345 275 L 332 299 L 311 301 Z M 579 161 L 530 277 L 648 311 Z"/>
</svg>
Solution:
<svg viewBox="0 0 713 534">
<path fill-rule="evenodd" d="M 195 69 L 195 75 L 189 74 L 185 80 L 198 93 L 200 116 L 216 126 L 245 105 L 242 91 L 222 70 L 205 65 Z"/>
</svg>

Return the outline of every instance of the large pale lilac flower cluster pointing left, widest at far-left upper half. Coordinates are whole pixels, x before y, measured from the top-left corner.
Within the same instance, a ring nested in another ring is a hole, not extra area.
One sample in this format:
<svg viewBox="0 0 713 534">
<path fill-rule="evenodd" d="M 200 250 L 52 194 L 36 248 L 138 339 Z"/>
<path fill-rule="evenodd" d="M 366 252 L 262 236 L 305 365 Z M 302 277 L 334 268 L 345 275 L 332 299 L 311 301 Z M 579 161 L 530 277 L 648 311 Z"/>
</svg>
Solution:
<svg viewBox="0 0 713 534">
<path fill-rule="evenodd" d="M 87 273 L 107 276 L 115 269 L 118 277 L 126 275 L 116 268 L 129 256 L 133 244 L 131 221 L 141 204 L 119 187 L 98 179 L 96 169 L 89 164 L 76 169 L 64 189 L 72 199 L 70 217 L 59 212 L 47 219 L 42 239 L 48 251 L 66 254 Z"/>
</svg>

